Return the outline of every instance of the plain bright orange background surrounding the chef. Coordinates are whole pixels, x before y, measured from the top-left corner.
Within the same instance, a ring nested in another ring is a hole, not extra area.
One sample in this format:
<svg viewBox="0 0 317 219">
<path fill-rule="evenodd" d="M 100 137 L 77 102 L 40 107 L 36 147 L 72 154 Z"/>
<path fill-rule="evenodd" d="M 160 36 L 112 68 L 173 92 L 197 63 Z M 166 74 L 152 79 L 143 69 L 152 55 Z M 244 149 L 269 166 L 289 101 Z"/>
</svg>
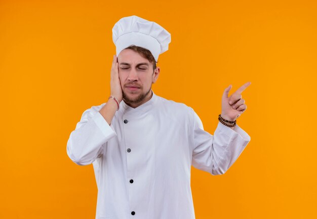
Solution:
<svg viewBox="0 0 317 219">
<path fill-rule="evenodd" d="M 315 1 L 0 1 L 0 218 L 94 218 L 93 166 L 66 154 L 85 109 L 107 101 L 111 29 L 137 15 L 171 33 L 154 92 L 214 133 L 243 92 L 251 136 L 223 175 L 192 167 L 195 215 L 317 218 Z"/>
</svg>

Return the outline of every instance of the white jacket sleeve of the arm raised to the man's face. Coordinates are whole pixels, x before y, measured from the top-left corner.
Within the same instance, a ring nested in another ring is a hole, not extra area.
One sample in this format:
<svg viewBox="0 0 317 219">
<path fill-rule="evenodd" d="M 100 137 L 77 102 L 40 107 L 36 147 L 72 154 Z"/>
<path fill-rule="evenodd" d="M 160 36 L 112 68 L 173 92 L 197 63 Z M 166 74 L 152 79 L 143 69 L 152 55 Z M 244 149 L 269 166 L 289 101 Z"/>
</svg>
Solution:
<svg viewBox="0 0 317 219">
<path fill-rule="evenodd" d="M 103 106 L 106 103 L 103 103 Z M 116 135 L 115 131 L 99 113 L 98 106 L 92 106 L 83 113 L 81 121 L 70 133 L 67 141 L 67 155 L 78 165 L 88 165 L 103 154 L 105 143 Z"/>
</svg>

